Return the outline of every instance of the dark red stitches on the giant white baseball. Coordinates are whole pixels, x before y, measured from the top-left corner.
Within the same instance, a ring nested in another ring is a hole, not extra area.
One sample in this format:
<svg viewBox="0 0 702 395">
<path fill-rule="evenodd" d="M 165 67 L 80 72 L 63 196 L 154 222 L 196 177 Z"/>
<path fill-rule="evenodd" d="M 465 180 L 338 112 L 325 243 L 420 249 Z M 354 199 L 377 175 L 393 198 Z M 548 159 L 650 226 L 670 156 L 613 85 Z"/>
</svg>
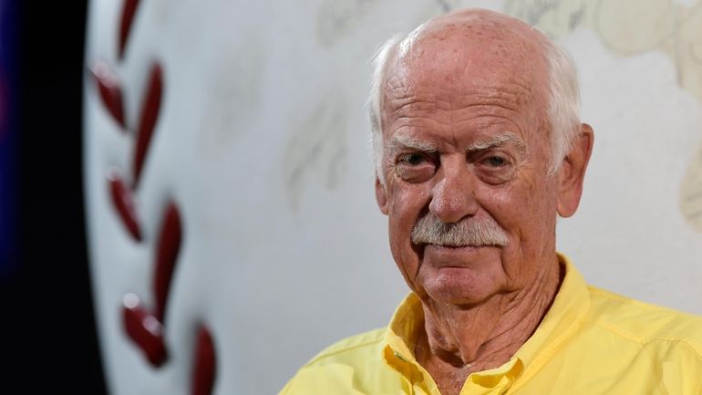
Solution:
<svg viewBox="0 0 702 395">
<path fill-rule="evenodd" d="M 139 0 L 124 0 L 123 2 L 119 22 L 118 59 L 122 59 L 125 55 L 129 32 L 133 26 L 138 5 Z M 121 130 L 129 130 L 119 78 L 106 62 L 96 62 L 93 65 L 92 74 L 103 106 L 108 110 L 112 119 L 118 123 Z M 142 242 L 142 234 L 134 192 L 138 188 L 153 132 L 159 119 L 163 85 L 163 70 L 156 62 L 151 66 L 149 81 L 141 103 L 136 147 L 132 158 L 131 187 L 127 186 L 119 169 L 114 168 L 108 174 L 111 203 L 126 231 L 137 243 Z M 170 284 L 181 250 L 181 243 L 181 214 L 177 204 L 170 202 L 166 205 L 162 215 L 156 251 L 153 256 L 155 267 L 152 291 L 156 307 L 144 306 L 139 296 L 135 294 L 128 294 L 122 302 L 124 330 L 154 367 L 160 367 L 168 359 L 163 329 Z M 191 393 L 193 395 L 209 395 L 212 393 L 216 372 L 214 342 L 210 330 L 202 324 L 198 326 L 196 337 L 193 349 Z"/>
</svg>

